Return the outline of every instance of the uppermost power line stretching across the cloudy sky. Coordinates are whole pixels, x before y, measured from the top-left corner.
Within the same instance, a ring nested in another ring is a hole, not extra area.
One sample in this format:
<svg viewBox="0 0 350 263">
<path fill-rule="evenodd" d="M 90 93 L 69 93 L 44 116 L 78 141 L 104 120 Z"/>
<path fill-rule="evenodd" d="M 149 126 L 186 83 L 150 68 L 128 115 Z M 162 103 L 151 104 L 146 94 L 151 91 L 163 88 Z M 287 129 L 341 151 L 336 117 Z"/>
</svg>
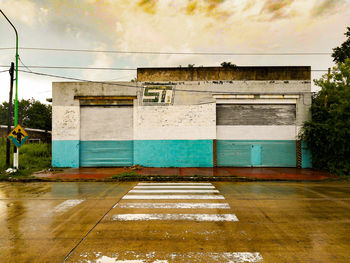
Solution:
<svg viewBox="0 0 350 263">
<path fill-rule="evenodd" d="M 14 47 L 0 48 L 11 50 Z M 161 51 L 121 51 L 121 50 L 93 50 L 93 49 L 69 49 L 69 48 L 40 48 L 20 47 L 21 50 L 33 51 L 58 51 L 58 52 L 86 52 L 86 53 L 111 53 L 111 54 L 145 54 L 145 55 L 206 55 L 206 56 L 328 56 L 329 52 L 161 52 Z"/>
</svg>

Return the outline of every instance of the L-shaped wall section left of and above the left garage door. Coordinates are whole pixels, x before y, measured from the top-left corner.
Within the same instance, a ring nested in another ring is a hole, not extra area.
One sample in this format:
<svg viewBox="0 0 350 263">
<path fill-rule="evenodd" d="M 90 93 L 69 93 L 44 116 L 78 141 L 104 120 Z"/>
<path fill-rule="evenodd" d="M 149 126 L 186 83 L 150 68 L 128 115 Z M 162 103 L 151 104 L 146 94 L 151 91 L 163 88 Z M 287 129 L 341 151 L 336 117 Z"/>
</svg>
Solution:
<svg viewBox="0 0 350 263">
<path fill-rule="evenodd" d="M 136 96 L 135 83 L 54 82 L 52 84 L 52 165 L 79 167 L 81 96 Z M 85 131 L 84 131 L 85 132 Z M 83 132 L 83 136 L 85 133 Z M 97 136 L 97 135 L 96 135 Z"/>
</svg>

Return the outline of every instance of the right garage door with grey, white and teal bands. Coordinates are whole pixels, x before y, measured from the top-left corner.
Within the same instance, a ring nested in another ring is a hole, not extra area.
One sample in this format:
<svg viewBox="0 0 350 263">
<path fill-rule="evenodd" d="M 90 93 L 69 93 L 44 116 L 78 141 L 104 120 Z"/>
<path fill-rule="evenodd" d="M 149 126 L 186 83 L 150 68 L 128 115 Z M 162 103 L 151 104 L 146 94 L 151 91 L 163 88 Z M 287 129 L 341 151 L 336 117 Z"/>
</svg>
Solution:
<svg viewBox="0 0 350 263">
<path fill-rule="evenodd" d="M 217 105 L 217 166 L 295 167 L 295 104 Z"/>
</svg>

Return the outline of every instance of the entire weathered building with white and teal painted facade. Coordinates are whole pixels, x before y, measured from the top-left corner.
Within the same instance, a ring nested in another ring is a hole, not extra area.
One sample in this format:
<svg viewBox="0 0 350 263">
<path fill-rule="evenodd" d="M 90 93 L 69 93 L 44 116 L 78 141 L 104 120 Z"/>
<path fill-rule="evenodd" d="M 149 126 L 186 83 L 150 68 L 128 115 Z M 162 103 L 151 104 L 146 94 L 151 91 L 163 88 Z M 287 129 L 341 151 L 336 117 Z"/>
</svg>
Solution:
<svg viewBox="0 0 350 263">
<path fill-rule="evenodd" d="M 53 83 L 55 167 L 311 167 L 310 67 L 139 68 Z"/>
</svg>

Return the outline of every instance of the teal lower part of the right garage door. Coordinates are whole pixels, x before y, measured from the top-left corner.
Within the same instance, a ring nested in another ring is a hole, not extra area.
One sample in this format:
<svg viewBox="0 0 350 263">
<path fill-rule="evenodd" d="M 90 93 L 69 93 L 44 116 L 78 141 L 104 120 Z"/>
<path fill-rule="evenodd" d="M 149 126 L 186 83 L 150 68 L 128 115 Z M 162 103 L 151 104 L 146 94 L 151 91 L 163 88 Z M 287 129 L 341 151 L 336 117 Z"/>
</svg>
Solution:
<svg viewBox="0 0 350 263">
<path fill-rule="evenodd" d="M 217 140 L 216 145 L 217 166 L 296 167 L 296 145 L 293 140 Z M 257 156 L 259 152 L 260 159 Z"/>
</svg>

